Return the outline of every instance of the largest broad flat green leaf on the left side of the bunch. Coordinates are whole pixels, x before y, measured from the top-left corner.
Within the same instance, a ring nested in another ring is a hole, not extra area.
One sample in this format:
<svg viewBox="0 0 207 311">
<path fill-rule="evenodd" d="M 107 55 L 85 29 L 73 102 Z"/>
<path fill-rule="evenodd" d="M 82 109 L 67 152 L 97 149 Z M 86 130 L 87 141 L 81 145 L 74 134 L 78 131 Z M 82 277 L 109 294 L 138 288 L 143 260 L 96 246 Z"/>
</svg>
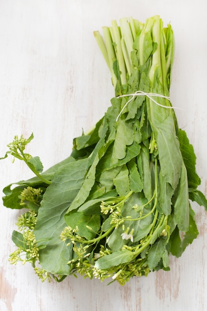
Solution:
<svg viewBox="0 0 207 311">
<path fill-rule="evenodd" d="M 34 234 L 37 242 L 41 240 L 47 245 L 39 252 L 40 263 L 43 269 L 53 274 L 68 275 L 70 272 L 67 262 L 71 258 L 71 249 L 61 240 L 60 234 L 66 227 L 65 213 L 84 181 L 87 167 L 88 159 L 62 166 L 54 174 L 41 202 Z"/>
</svg>

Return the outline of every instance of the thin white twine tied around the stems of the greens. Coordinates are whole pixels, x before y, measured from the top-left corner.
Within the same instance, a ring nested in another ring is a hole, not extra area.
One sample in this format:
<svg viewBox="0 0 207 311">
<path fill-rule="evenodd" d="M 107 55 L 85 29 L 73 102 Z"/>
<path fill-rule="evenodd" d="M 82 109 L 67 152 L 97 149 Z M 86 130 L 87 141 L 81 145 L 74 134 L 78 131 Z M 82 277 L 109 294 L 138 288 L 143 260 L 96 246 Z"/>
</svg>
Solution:
<svg viewBox="0 0 207 311">
<path fill-rule="evenodd" d="M 172 106 L 164 106 L 159 104 L 156 100 L 154 100 L 152 97 L 161 97 L 161 98 L 165 98 L 167 100 L 170 101 L 170 97 L 169 96 L 165 96 L 165 95 L 161 95 L 161 94 L 157 94 L 157 93 L 146 93 L 143 91 L 137 91 L 134 94 L 124 94 L 124 95 L 120 95 L 117 98 L 121 98 L 121 97 L 127 97 L 127 96 L 133 96 L 131 99 L 128 100 L 128 102 L 126 102 L 126 104 L 124 105 L 124 107 L 122 108 L 122 110 L 120 111 L 118 117 L 116 118 L 116 122 L 118 121 L 119 117 L 121 116 L 122 112 L 124 111 L 124 109 L 126 108 L 126 106 L 136 97 L 136 96 L 147 96 L 149 99 L 151 99 L 156 105 L 163 107 L 163 108 L 169 108 L 169 109 L 179 109 L 184 111 L 181 108 L 178 107 L 172 107 Z"/>
</svg>

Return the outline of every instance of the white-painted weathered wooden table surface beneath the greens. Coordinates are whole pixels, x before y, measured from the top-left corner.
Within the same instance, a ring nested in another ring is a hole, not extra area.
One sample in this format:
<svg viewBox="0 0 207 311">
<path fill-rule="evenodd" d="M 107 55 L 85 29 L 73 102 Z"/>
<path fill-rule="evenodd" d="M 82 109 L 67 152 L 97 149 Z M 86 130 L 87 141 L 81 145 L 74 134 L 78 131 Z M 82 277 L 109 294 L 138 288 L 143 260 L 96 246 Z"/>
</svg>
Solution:
<svg viewBox="0 0 207 311">
<path fill-rule="evenodd" d="M 104 114 L 114 96 L 110 73 L 93 37 L 112 19 L 140 21 L 159 14 L 171 22 L 176 52 L 171 86 L 180 126 L 197 154 L 200 189 L 207 194 L 206 0 L 1 0 L 0 156 L 14 135 L 34 140 L 28 152 L 45 169 L 70 154 L 72 139 Z M 186 118 L 186 119 L 185 119 Z M 0 161 L 0 189 L 31 177 L 11 157 Z M 2 196 L 2 195 L 1 195 Z M 171 270 L 118 283 L 68 277 L 41 283 L 28 264 L 8 262 L 19 215 L 0 202 L 0 311 L 205 311 L 207 213 L 193 205 L 199 237 Z"/>
</svg>

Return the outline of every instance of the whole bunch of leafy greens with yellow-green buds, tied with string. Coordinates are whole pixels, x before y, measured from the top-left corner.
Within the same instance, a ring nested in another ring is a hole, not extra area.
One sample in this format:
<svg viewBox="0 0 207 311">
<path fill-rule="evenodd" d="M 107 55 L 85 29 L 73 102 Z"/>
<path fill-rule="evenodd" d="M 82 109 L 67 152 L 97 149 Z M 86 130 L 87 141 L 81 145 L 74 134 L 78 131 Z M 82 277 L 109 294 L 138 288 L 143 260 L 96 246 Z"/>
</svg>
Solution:
<svg viewBox="0 0 207 311">
<path fill-rule="evenodd" d="M 11 263 L 31 262 L 38 276 L 76 273 L 124 285 L 133 276 L 169 270 L 198 235 L 190 201 L 207 209 L 197 188 L 196 156 L 169 100 L 174 37 L 159 16 L 112 21 L 94 32 L 115 96 L 71 155 L 43 172 L 31 141 L 14 137 L 8 154 L 35 177 L 3 189 L 3 204 L 26 209 L 12 234 Z M 130 95 L 133 94 L 133 95 Z M 11 187 L 12 186 L 12 187 Z"/>
</svg>

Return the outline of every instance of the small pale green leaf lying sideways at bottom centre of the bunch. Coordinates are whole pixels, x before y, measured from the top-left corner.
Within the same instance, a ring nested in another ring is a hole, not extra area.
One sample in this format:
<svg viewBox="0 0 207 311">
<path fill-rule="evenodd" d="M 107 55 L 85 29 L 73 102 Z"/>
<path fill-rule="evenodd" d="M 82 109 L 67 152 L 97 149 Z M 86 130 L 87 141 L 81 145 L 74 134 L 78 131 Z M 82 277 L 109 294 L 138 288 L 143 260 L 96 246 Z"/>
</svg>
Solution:
<svg viewBox="0 0 207 311">
<path fill-rule="evenodd" d="M 95 263 L 95 268 L 104 270 L 118 266 L 122 263 L 130 262 L 134 257 L 134 253 L 127 249 L 113 252 L 99 258 Z"/>
</svg>

